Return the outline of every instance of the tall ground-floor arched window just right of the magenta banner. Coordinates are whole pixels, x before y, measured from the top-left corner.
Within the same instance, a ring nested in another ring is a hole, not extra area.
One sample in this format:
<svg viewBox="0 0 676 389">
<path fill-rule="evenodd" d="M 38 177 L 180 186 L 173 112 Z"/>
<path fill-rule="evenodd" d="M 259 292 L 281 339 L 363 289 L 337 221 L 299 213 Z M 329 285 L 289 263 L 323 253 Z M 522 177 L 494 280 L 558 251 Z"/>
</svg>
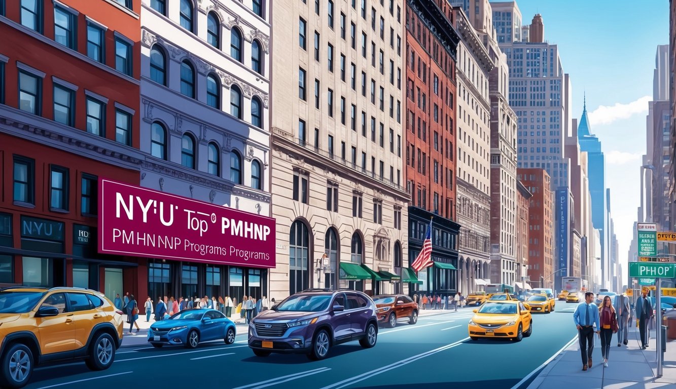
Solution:
<svg viewBox="0 0 676 389">
<path fill-rule="evenodd" d="M 310 232 L 300 220 L 291 224 L 289 232 L 289 294 L 305 290 L 310 284 L 308 259 L 310 257 Z"/>
</svg>

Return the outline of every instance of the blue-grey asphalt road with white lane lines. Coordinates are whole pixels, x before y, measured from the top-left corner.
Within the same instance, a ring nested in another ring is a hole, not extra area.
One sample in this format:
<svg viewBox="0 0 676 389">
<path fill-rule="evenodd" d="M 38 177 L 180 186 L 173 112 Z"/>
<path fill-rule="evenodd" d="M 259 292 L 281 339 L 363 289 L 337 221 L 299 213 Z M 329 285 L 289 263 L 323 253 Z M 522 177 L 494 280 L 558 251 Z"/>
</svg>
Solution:
<svg viewBox="0 0 676 389">
<path fill-rule="evenodd" d="M 420 317 L 414 326 L 381 328 L 374 348 L 358 342 L 336 346 L 324 361 L 305 355 L 254 356 L 245 327 L 235 344 L 201 344 L 195 350 L 148 346 L 120 348 L 105 371 L 84 363 L 39 367 L 28 389 L 204 387 L 228 389 L 509 389 L 558 353 L 576 334 L 574 305 L 558 303 L 551 314 L 533 315 L 533 335 L 521 342 L 473 341 L 470 309 Z M 415 384 L 412 386 L 412 384 Z"/>
</svg>

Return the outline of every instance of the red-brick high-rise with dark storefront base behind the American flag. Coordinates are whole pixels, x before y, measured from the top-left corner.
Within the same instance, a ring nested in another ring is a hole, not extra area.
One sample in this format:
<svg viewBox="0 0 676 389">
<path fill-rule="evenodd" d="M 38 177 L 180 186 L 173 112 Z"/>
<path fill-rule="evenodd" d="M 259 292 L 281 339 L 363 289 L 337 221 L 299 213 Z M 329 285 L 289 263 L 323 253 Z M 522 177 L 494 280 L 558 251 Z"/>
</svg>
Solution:
<svg viewBox="0 0 676 389">
<path fill-rule="evenodd" d="M 432 220 L 434 265 L 419 291 L 458 290 L 456 219 L 456 59 L 459 37 L 445 0 L 406 4 L 406 184 L 412 263 Z M 428 24 L 429 23 L 429 24 Z"/>
</svg>

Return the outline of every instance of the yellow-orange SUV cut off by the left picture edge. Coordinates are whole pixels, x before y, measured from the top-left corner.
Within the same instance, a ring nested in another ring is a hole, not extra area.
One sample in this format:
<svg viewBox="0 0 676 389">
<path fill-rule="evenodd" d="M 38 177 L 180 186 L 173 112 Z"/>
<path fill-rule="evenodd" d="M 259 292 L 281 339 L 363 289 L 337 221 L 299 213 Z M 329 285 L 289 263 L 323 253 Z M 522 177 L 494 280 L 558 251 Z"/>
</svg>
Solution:
<svg viewBox="0 0 676 389">
<path fill-rule="evenodd" d="M 84 359 L 107 369 L 122 342 L 122 312 L 83 288 L 0 289 L 0 388 L 22 388 L 35 365 Z"/>
</svg>

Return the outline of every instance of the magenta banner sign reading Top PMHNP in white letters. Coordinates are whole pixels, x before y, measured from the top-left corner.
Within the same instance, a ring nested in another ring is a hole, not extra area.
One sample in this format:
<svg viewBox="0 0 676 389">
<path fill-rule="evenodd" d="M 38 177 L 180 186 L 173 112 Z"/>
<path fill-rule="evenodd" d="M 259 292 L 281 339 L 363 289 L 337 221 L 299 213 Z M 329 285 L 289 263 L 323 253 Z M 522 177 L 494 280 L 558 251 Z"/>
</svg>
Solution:
<svg viewBox="0 0 676 389">
<path fill-rule="evenodd" d="M 275 266 L 274 219 L 99 178 L 99 253 Z"/>
</svg>

